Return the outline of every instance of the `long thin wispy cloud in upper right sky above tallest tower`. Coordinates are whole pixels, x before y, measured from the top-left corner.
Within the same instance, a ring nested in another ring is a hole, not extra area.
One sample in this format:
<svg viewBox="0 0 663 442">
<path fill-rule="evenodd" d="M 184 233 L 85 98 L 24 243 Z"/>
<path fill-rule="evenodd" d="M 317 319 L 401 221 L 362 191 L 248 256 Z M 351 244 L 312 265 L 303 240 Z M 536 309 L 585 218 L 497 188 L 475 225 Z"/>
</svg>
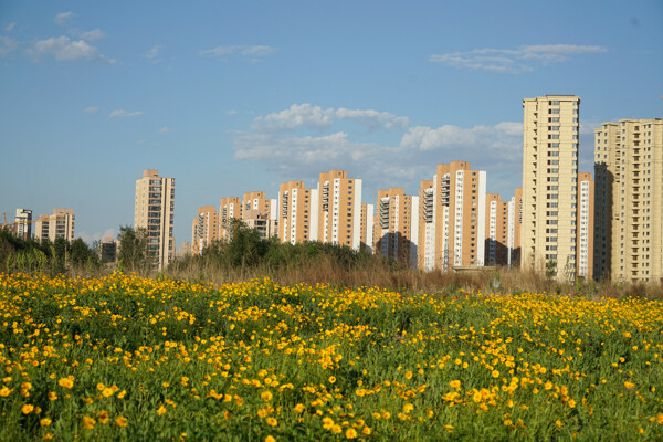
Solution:
<svg viewBox="0 0 663 442">
<path fill-rule="evenodd" d="M 607 52 L 603 46 L 577 44 L 537 44 L 518 49 L 476 49 L 431 55 L 429 61 L 454 67 L 517 74 L 569 60 L 571 55 Z"/>
</svg>

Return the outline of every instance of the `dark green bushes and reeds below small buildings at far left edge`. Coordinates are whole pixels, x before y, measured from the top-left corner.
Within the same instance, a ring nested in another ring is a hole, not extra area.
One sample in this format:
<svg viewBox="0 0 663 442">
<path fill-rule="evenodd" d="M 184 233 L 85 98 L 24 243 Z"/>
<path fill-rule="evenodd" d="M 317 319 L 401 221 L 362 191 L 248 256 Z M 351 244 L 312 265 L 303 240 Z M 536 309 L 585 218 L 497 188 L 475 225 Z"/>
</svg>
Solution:
<svg viewBox="0 0 663 442">
<path fill-rule="evenodd" d="M 0 271 L 56 274 L 76 269 L 92 273 L 99 265 L 97 251 L 80 238 L 72 242 L 64 238 L 23 240 L 9 230 L 0 230 Z"/>
</svg>

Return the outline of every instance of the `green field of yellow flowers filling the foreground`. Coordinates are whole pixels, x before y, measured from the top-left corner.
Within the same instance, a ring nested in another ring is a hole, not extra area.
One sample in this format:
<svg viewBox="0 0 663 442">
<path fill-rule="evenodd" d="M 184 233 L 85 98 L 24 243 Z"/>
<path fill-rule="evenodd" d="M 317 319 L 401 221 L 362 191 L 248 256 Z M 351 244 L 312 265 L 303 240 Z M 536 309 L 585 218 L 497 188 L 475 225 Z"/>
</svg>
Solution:
<svg viewBox="0 0 663 442">
<path fill-rule="evenodd" d="M 663 303 L 0 275 L 0 441 L 660 440 Z"/>
</svg>

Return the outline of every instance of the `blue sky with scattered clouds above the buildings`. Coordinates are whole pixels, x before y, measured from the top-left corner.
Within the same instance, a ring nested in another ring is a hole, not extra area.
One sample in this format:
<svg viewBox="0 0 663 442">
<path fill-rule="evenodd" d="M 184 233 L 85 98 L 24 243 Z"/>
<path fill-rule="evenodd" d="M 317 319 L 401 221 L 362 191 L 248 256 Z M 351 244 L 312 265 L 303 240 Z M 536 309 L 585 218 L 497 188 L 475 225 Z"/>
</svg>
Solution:
<svg viewBox="0 0 663 442">
<path fill-rule="evenodd" d="M 199 206 L 346 169 L 414 193 L 469 160 L 522 180 L 524 97 L 581 97 L 592 129 L 663 117 L 663 2 L 3 1 L 0 211 L 71 208 L 92 241 L 131 224 L 135 180 Z"/>
</svg>

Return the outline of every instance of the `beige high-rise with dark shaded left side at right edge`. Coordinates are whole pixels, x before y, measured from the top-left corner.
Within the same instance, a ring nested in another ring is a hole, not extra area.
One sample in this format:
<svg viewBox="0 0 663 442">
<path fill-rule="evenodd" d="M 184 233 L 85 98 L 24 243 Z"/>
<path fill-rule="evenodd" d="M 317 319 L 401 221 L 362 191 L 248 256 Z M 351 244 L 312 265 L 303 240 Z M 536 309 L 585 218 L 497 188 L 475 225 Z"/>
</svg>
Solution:
<svg viewBox="0 0 663 442">
<path fill-rule="evenodd" d="M 663 120 L 621 119 L 594 130 L 594 276 L 663 277 Z M 609 220 L 609 221 L 608 221 Z"/>
</svg>

